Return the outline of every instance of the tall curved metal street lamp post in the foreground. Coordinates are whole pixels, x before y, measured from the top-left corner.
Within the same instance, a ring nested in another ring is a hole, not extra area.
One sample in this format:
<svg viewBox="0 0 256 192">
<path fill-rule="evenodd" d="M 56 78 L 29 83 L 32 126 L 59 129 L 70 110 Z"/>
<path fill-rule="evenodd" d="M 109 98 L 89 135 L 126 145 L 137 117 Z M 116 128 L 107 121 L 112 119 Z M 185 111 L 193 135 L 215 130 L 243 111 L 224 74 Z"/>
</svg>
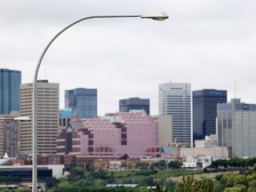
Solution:
<svg viewBox="0 0 256 192">
<path fill-rule="evenodd" d="M 53 41 L 60 36 L 65 30 L 68 28 L 74 26 L 76 23 L 81 22 L 83 20 L 90 20 L 90 19 L 100 19 L 100 18 L 141 18 L 141 19 L 151 19 L 151 20 L 158 20 L 163 21 L 168 19 L 168 16 L 165 12 L 160 13 L 149 13 L 149 14 L 141 14 L 141 15 L 101 15 L 101 16 L 91 16 L 91 17 L 85 17 L 80 20 L 76 20 L 75 22 L 69 24 L 66 28 L 63 28 L 60 30 L 60 32 L 52 38 L 52 40 L 49 42 L 49 44 L 46 45 L 44 48 L 44 52 L 41 54 L 40 59 L 38 60 L 37 66 L 36 66 L 36 72 L 34 76 L 33 81 L 33 172 L 32 172 L 32 192 L 37 192 L 37 100 L 36 100 L 36 82 L 37 82 L 37 75 L 39 72 L 40 65 L 42 63 L 42 60 L 44 59 L 44 54 L 47 52 L 50 45 L 53 43 Z"/>
</svg>

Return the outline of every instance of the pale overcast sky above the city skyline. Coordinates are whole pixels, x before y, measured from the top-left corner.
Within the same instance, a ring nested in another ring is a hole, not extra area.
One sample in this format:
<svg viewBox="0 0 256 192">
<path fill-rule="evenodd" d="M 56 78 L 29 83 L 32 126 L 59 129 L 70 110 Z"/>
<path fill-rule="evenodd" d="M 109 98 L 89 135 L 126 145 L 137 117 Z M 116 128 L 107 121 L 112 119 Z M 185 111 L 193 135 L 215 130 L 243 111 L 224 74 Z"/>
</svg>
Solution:
<svg viewBox="0 0 256 192">
<path fill-rule="evenodd" d="M 0 68 L 21 70 L 31 83 L 46 44 L 69 23 L 92 15 L 166 12 L 169 20 L 85 20 L 46 52 L 39 79 L 64 90 L 98 89 L 99 115 L 118 100 L 150 99 L 158 84 L 191 83 L 192 91 L 228 90 L 256 103 L 255 0 L 0 0 Z"/>
</svg>

